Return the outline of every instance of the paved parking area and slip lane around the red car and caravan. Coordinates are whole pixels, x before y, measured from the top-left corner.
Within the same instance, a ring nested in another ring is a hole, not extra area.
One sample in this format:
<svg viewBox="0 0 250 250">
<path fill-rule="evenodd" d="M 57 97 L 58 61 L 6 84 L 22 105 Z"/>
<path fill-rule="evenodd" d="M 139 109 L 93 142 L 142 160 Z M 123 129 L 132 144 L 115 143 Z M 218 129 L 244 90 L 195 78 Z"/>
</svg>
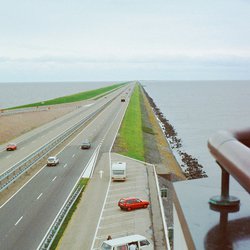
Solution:
<svg viewBox="0 0 250 250">
<path fill-rule="evenodd" d="M 110 182 L 113 161 L 127 163 L 127 181 Z M 157 250 L 167 249 L 155 181 L 152 165 L 114 153 L 111 159 L 108 153 L 103 154 L 58 249 L 98 249 L 108 235 L 116 238 L 130 234 L 146 236 Z M 117 201 L 126 196 L 148 199 L 152 204 L 147 209 L 121 211 Z"/>
</svg>

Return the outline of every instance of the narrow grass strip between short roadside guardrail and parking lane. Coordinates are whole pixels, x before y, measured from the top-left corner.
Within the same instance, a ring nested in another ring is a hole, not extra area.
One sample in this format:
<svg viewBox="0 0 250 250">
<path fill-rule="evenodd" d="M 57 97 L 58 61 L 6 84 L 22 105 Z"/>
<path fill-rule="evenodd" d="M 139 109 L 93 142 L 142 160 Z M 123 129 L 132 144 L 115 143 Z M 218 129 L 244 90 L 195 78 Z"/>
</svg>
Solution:
<svg viewBox="0 0 250 250">
<path fill-rule="evenodd" d="M 74 213 L 75 210 L 77 209 L 77 205 L 78 205 L 78 203 L 79 203 L 80 200 L 81 200 L 82 193 L 83 193 L 83 191 L 84 191 L 84 189 L 85 189 L 85 187 L 86 187 L 86 185 L 87 185 L 87 183 L 88 183 L 88 180 L 89 180 L 88 178 L 85 178 L 85 179 L 81 179 L 81 180 L 79 181 L 78 186 L 83 187 L 83 190 L 82 190 L 81 194 L 79 195 L 79 197 L 76 199 L 74 205 L 73 205 L 73 206 L 71 207 L 71 209 L 69 210 L 68 215 L 66 216 L 66 218 L 65 218 L 65 220 L 64 220 L 64 222 L 63 222 L 63 224 L 61 225 L 61 227 L 60 227 L 60 229 L 59 229 L 59 231 L 58 231 L 58 233 L 57 233 L 57 235 L 56 235 L 56 237 L 55 237 L 55 239 L 54 239 L 54 241 L 53 241 L 53 243 L 52 243 L 52 245 L 51 245 L 51 247 L 50 247 L 51 250 L 56 249 L 56 247 L 57 247 L 57 245 L 58 245 L 58 243 L 59 243 L 61 237 L 63 236 L 63 233 L 64 233 L 65 229 L 67 228 L 67 225 L 69 224 L 70 219 L 71 219 L 73 213 Z"/>
</svg>

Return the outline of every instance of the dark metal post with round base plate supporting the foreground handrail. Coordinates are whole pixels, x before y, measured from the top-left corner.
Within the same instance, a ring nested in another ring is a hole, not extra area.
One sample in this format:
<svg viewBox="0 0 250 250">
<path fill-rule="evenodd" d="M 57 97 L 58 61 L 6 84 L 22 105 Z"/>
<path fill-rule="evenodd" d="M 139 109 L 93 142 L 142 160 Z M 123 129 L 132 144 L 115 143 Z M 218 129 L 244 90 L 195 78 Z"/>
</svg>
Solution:
<svg viewBox="0 0 250 250">
<path fill-rule="evenodd" d="M 218 207 L 239 207 L 240 200 L 229 195 L 229 173 L 219 163 L 218 165 L 221 168 L 221 195 L 211 197 L 209 203 Z"/>
</svg>

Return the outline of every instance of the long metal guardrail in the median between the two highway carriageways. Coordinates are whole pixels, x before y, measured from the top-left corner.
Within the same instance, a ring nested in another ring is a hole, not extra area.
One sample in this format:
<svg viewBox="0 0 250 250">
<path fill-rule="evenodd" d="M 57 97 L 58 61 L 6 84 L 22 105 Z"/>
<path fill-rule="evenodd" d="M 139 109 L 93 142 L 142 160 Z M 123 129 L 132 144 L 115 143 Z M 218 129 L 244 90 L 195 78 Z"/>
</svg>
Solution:
<svg viewBox="0 0 250 250">
<path fill-rule="evenodd" d="M 50 142 L 40 147 L 38 150 L 9 168 L 0 176 L 0 192 L 4 191 L 8 188 L 13 182 L 15 182 L 21 175 L 27 172 L 34 164 L 36 164 L 39 160 L 44 158 L 50 151 L 58 146 L 58 144 L 65 141 L 69 136 L 71 136 L 76 130 L 78 130 L 81 126 L 83 126 L 87 121 L 89 121 L 92 117 L 94 117 L 97 113 L 101 112 L 106 106 L 108 106 L 117 96 L 109 100 L 107 103 L 102 105 L 99 109 L 97 109 L 92 114 L 88 115 L 84 119 L 77 122 L 71 128 L 64 131 L 59 136 L 52 139 Z M 4 182 L 4 183 L 3 183 Z"/>
</svg>

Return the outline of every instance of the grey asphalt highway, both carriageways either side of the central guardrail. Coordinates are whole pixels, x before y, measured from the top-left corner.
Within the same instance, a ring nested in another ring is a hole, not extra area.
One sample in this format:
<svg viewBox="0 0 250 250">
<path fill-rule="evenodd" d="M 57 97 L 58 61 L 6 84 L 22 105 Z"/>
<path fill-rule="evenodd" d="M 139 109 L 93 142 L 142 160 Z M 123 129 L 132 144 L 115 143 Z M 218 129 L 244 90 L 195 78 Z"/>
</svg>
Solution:
<svg viewBox="0 0 250 250">
<path fill-rule="evenodd" d="M 118 93 L 120 94 L 122 91 L 126 90 L 123 88 L 118 90 Z M 93 112 L 116 95 L 117 91 L 106 98 L 99 99 L 91 106 L 79 108 L 72 114 L 43 126 L 37 133 L 34 131 L 29 133 L 22 142 L 19 142 L 19 149 L 13 152 L 13 157 L 7 158 L 7 152 L 0 153 L 1 166 L 9 167 L 21 160 L 32 150 L 47 143 L 60 131 L 64 131 L 77 122 L 77 119 Z M 121 103 L 120 96 L 113 100 L 58 153 L 59 165 L 56 167 L 44 166 L 23 188 L 0 207 L 1 249 L 28 250 L 36 249 L 39 246 L 75 183 L 84 172 L 95 149 L 101 144 L 101 151 L 108 152 L 125 113 L 128 98 L 129 95 L 125 103 Z M 81 150 L 81 141 L 86 137 L 92 141 L 92 147 L 89 150 Z M 25 148 L 22 150 L 22 147 Z"/>
</svg>

